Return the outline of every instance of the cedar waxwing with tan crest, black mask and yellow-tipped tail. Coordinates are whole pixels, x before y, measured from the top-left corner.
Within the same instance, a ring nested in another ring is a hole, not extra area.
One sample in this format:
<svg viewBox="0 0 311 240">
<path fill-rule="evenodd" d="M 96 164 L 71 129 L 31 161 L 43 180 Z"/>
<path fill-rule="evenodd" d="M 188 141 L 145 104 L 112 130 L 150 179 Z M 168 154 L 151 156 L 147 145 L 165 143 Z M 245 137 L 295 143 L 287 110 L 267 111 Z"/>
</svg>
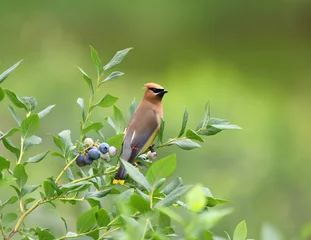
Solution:
<svg viewBox="0 0 311 240">
<path fill-rule="evenodd" d="M 163 118 L 162 98 L 167 90 L 156 83 L 145 84 L 146 92 L 134 112 L 124 135 L 120 158 L 134 163 L 139 154 L 145 152 L 155 139 Z M 126 170 L 120 165 L 113 184 L 124 184 Z"/>
</svg>

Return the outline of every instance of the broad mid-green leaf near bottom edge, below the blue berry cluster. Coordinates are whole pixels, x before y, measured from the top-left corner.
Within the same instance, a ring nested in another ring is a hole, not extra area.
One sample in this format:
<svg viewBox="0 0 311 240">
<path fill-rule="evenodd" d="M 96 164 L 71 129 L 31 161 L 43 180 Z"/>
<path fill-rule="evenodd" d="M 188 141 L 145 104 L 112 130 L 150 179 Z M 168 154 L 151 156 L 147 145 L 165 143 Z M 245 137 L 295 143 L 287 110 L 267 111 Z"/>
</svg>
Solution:
<svg viewBox="0 0 311 240">
<path fill-rule="evenodd" d="M 98 207 L 91 208 L 84 213 L 82 213 L 76 222 L 76 230 L 78 233 L 85 233 L 95 227 L 96 221 L 96 212 L 98 211 Z"/>
</svg>

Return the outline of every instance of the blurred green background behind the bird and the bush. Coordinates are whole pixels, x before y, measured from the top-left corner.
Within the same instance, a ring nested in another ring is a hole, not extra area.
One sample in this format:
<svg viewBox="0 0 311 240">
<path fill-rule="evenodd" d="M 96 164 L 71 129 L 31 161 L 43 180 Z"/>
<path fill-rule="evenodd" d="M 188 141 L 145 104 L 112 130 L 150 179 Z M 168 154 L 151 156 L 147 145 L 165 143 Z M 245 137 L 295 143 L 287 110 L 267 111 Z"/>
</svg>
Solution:
<svg viewBox="0 0 311 240">
<path fill-rule="evenodd" d="M 42 121 L 41 148 L 51 146 L 47 132 L 71 129 L 78 137 L 76 99 L 88 93 L 76 66 L 95 76 L 89 45 L 104 63 L 134 47 L 117 68 L 126 75 L 101 92 L 119 96 L 124 115 L 152 81 L 169 90 L 165 138 L 178 134 L 185 106 L 195 128 L 207 100 L 213 117 L 244 129 L 208 137 L 193 151 L 159 151 L 177 153 L 175 175 L 186 183 L 201 182 L 215 197 L 234 202 L 234 214 L 218 233 L 232 233 L 245 219 L 249 237 L 258 239 L 270 222 L 293 239 L 311 221 L 310 1 L 1 1 L 0 9 L 0 72 L 24 59 L 2 87 L 35 96 L 39 110 L 56 104 Z M 14 124 L 7 103 L 0 105 L 2 131 Z M 98 109 L 93 119 L 109 114 Z M 2 146 L 0 154 L 6 154 Z M 29 183 L 62 167 L 49 157 L 29 168 Z M 1 192 L 1 200 L 12 193 Z M 65 209 L 72 219 L 78 214 L 70 205 Z M 61 226 L 40 209 L 35 213 L 28 222 Z"/>
</svg>

